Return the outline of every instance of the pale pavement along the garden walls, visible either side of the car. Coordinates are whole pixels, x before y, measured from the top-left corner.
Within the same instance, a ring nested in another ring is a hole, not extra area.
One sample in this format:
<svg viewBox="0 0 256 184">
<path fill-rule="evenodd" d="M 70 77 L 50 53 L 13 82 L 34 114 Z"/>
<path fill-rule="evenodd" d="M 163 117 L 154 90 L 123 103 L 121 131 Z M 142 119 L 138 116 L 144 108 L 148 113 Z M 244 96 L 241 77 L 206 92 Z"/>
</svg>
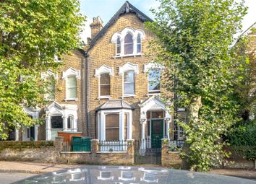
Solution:
<svg viewBox="0 0 256 184">
<path fill-rule="evenodd" d="M 57 170 L 71 169 L 71 168 L 80 167 L 80 166 L 81 165 L 56 165 L 56 164 L 38 163 L 38 162 L 0 161 L 0 172 L 39 174 L 44 172 L 54 172 Z M 235 176 L 239 178 L 256 180 L 256 170 L 216 169 L 216 170 L 210 170 L 209 173 L 218 174 L 218 175 L 229 175 L 229 176 Z"/>
</svg>

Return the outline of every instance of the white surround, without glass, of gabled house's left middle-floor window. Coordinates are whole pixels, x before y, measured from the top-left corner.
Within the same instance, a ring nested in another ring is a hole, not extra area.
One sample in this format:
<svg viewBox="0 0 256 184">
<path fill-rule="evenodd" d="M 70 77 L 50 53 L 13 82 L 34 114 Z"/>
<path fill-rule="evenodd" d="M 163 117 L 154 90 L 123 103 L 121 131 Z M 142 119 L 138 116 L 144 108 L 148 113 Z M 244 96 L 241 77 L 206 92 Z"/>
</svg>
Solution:
<svg viewBox="0 0 256 184">
<path fill-rule="evenodd" d="M 114 68 L 103 64 L 100 68 L 95 69 L 94 75 L 98 78 L 98 99 L 110 99 L 111 95 L 101 96 L 101 74 L 109 74 L 111 82 L 111 76 L 114 76 Z"/>
</svg>

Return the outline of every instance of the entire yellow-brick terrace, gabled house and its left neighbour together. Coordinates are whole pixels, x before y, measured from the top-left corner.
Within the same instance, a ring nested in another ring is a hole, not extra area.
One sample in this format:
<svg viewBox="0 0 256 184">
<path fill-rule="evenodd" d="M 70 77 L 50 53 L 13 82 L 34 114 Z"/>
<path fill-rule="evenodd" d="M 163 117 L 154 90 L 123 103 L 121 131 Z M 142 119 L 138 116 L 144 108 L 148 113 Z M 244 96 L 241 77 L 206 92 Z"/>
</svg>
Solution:
<svg viewBox="0 0 256 184">
<path fill-rule="evenodd" d="M 15 130 L 10 139 L 54 140 L 58 131 L 100 141 L 182 137 L 182 130 L 169 131 L 173 118 L 161 100 L 164 67 L 145 56 L 155 37 L 144 22 L 152 21 L 128 1 L 104 27 L 100 17 L 93 18 L 85 49 L 56 58 L 64 62 L 61 69 L 42 74 L 55 79 L 46 95 L 49 104 L 25 108 L 45 123 Z"/>
</svg>

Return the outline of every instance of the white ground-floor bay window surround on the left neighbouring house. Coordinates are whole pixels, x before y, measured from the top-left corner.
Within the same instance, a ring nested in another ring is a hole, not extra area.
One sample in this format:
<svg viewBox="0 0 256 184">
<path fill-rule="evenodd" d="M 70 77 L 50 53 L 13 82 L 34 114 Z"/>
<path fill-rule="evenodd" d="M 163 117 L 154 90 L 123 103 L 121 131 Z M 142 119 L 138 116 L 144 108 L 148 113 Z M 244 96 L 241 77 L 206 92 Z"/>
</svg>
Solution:
<svg viewBox="0 0 256 184">
<path fill-rule="evenodd" d="M 51 103 L 45 108 L 46 111 L 46 140 L 54 140 L 58 131 L 77 132 L 77 105 Z M 61 127 L 52 127 L 53 117 L 61 118 Z M 69 118 L 72 118 L 69 120 Z M 70 121 L 70 122 L 68 122 Z M 70 123 L 70 127 L 68 124 Z"/>
</svg>

